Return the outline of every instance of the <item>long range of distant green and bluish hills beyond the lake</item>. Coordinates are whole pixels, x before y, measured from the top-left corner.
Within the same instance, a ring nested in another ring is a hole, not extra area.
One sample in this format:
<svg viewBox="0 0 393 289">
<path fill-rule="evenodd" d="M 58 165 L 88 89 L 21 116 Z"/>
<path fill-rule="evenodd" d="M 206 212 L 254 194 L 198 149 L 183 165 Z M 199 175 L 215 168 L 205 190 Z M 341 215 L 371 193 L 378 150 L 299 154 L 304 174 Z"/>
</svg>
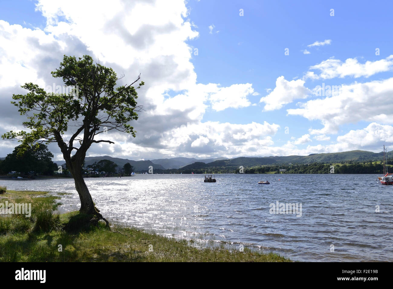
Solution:
<svg viewBox="0 0 393 289">
<path fill-rule="evenodd" d="M 388 152 L 393 156 L 393 151 Z M 288 155 L 288 156 L 270 156 L 270 157 L 236 157 L 228 159 L 225 157 L 210 159 L 195 159 L 188 157 L 174 157 L 171 159 L 152 159 L 148 161 L 132 161 L 130 159 L 121 159 L 118 157 L 110 157 L 108 155 L 97 157 L 86 157 L 85 165 L 92 165 L 102 159 L 108 159 L 116 163 L 119 167 L 123 167 L 125 163 L 130 163 L 135 171 L 147 171 L 149 166 L 153 169 L 201 169 L 208 167 L 239 167 L 239 166 L 257 166 L 272 165 L 279 163 L 343 163 L 343 162 L 364 162 L 364 161 L 382 161 L 383 152 L 367 152 L 364 150 L 351 150 L 349 152 L 336 152 L 328 154 L 310 154 L 310 155 Z M 55 161 L 58 165 L 64 161 Z"/>
</svg>

